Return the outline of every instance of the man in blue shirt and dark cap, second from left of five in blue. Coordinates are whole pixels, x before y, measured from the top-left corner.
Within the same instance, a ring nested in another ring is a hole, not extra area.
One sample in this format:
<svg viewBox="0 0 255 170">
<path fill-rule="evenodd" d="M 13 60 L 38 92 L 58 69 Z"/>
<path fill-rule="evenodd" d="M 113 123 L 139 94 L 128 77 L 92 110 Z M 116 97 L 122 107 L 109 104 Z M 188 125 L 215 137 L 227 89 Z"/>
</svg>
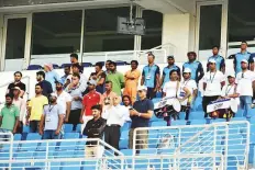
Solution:
<svg viewBox="0 0 255 170">
<path fill-rule="evenodd" d="M 160 80 L 160 87 L 163 88 L 166 82 L 170 80 L 169 73 L 171 70 L 177 70 L 177 73 L 179 76 L 179 79 L 181 78 L 180 76 L 180 68 L 175 65 L 175 58 L 174 56 L 168 56 L 167 57 L 168 66 L 163 69 L 163 75 L 162 75 L 162 80 Z"/>
</svg>

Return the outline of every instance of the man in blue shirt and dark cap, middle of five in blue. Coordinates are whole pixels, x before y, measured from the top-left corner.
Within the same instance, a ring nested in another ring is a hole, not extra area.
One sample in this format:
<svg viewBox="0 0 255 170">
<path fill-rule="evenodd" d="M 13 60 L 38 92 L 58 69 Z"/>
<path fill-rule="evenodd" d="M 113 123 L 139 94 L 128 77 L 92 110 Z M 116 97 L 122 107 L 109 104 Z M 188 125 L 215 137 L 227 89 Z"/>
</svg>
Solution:
<svg viewBox="0 0 255 170">
<path fill-rule="evenodd" d="M 201 80 L 204 75 L 202 64 L 196 60 L 197 54 L 195 52 L 189 52 L 187 56 L 189 61 L 184 64 L 182 70 L 189 68 L 191 70 L 191 79 L 198 83 L 199 80 Z"/>
</svg>

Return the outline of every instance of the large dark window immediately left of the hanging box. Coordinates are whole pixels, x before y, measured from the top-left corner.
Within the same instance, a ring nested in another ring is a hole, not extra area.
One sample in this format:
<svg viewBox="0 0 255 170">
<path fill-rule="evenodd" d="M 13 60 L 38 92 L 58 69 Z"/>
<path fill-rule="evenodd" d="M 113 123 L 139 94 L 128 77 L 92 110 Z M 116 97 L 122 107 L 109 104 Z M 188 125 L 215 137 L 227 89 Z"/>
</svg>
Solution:
<svg viewBox="0 0 255 170">
<path fill-rule="evenodd" d="M 86 10 L 84 53 L 133 50 L 134 35 L 117 33 L 118 16 L 129 14 L 129 7 Z"/>
</svg>

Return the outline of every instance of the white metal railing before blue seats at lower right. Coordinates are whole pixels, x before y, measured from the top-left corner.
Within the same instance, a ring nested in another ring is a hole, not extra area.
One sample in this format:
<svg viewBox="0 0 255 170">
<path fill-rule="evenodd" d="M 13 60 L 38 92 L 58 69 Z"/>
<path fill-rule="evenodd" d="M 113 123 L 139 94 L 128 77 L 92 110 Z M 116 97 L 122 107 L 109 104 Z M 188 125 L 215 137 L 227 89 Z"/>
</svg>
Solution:
<svg viewBox="0 0 255 170">
<path fill-rule="evenodd" d="M 247 168 L 250 123 L 226 122 L 209 125 L 142 127 L 134 129 L 133 156 L 220 154 L 224 169 Z"/>
</svg>

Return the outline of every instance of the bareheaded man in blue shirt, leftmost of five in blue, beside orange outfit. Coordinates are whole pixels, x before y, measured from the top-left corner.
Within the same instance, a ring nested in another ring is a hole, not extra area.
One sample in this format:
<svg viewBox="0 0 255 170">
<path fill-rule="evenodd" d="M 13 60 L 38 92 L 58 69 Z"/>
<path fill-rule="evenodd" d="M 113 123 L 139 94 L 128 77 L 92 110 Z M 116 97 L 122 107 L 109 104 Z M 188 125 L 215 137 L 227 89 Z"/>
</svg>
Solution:
<svg viewBox="0 0 255 170">
<path fill-rule="evenodd" d="M 148 53 L 148 65 L 144 66 L 141 86 L 147 87 L 147 99 L 156 97 L 156 92 L 159 90 L 160 70 L 157 65 L 154 64 L 155 56 Z"/>
</svg>

